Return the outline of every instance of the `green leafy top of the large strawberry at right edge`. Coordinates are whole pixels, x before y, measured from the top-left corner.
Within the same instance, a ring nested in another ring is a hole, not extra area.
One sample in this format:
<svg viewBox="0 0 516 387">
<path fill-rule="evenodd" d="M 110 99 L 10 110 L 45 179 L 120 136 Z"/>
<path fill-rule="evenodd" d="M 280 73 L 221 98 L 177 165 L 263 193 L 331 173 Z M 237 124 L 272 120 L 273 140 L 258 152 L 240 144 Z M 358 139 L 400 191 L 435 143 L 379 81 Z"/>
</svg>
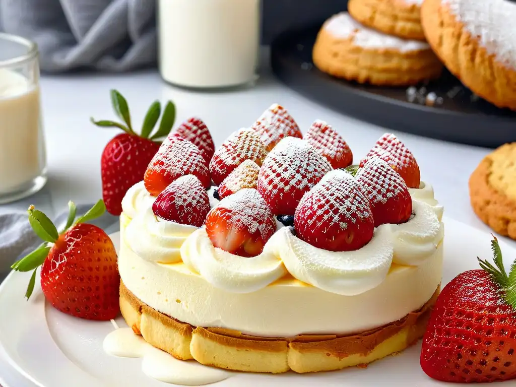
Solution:
<svg viewBox="0 0 516 387">
<path fill-rule="evenodd" d="M 516 309 L 516 261 L 511 265 L 510 273 L 507 275 L 502 249 L 494 235 L 491 241 L 491 250 L 493 251 L 494 266 L 487 260 L 481 260 L 479 257 L 477 257 L 478 263 L 483 270 L 490 273 L 493 280 L 503 289 L 505 301 Z"/>
</svg>

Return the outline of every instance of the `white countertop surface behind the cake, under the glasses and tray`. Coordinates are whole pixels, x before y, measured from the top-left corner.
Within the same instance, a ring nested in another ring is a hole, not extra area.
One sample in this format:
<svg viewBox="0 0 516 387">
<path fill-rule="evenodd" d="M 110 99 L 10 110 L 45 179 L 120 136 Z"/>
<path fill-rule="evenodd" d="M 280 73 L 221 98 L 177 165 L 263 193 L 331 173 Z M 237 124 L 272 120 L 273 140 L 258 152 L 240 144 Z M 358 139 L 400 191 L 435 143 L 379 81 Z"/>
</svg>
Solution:
<svg viewBox="0 0 516 387">
<path fill-rule="evenodd" d="M 119 132 L 95 127 L 89 118 L 115 119 L 109 100 L 111 88 L 126 96 L 133 125 L 141 122 L 152 101 L 171 99 L 178 111 L 176 123 L 199 116 L 208 125 L 216 146 L 231 132 L 251 125 L 275 102 L 291 112 L 303 132 L 315 119 L 332 124 L 344 136 L 356 160 L 386 131 L 318 105 L 287 89 L 268 72 L 262 74 L 254 88 L 223 93 L 174 88 L 165 84 L 156 71 L 43 76 L 41 87 L 49 182 L 37 196 L 0 206 L 0 211 L 25 210 L 30 202 L 54 213 L 62 211 L 70 199 L 87 203 L 101 198 L 101 153 L 109 139 Z M 488 232 L 471 210 L 467 181 L 490 150 L 394 133 L 416 156 L 422 179 L 434 186 L 447 216 Z"/>
</svg>

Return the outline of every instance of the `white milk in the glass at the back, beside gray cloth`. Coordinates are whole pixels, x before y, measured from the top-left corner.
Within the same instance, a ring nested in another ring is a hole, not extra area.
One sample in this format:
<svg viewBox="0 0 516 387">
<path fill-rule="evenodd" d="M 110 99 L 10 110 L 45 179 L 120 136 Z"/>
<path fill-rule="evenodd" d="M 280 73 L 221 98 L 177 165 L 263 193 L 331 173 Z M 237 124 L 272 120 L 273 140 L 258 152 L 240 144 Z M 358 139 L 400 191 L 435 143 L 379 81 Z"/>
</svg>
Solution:
<svg viewBox="0 0 516 387">
<path fill-rule="evenodd" d="M 159 0 L 159 68 L 175 85 L 223 88 L 255 79 L 260 0 Z"/>
</svg>

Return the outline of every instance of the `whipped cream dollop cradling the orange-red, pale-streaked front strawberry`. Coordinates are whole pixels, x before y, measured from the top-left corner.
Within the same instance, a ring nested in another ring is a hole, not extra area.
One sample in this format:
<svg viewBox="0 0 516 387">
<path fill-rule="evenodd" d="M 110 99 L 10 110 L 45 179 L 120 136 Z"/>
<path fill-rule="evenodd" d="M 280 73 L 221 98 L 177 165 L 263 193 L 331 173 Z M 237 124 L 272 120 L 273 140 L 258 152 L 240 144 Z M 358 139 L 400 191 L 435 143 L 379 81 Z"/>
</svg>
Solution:
<svg viewBox="0 0 516 387">
<path fill-rule="evenodd" d="M 271 239 L 260 255 L 247 258 L 214 247 L 201 228 L 186 239 L 181 256 L 191 271 L 213 286 L 232 293 L 251 293 L 286 274 L 283 263 L 270 250 L 274 246 Z"/>
</svg>

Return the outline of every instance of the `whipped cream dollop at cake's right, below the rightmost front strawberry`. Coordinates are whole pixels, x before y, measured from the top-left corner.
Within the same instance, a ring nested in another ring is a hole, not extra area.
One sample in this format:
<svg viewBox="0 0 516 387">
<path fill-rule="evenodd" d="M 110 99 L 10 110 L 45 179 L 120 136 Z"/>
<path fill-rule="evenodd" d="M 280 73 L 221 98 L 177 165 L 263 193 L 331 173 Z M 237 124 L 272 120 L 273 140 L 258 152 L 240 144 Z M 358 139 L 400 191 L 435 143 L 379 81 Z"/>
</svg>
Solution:
<svg viewBox="0 0 516 387">
<path fill-rule="evenodd" d="M 405 223 L 390 224 L 393 262 L 400 265 L 421 265 L 436 252 L 444 237 L 442 206 L 412 199 L 412 213 Z"/>
</svg>

